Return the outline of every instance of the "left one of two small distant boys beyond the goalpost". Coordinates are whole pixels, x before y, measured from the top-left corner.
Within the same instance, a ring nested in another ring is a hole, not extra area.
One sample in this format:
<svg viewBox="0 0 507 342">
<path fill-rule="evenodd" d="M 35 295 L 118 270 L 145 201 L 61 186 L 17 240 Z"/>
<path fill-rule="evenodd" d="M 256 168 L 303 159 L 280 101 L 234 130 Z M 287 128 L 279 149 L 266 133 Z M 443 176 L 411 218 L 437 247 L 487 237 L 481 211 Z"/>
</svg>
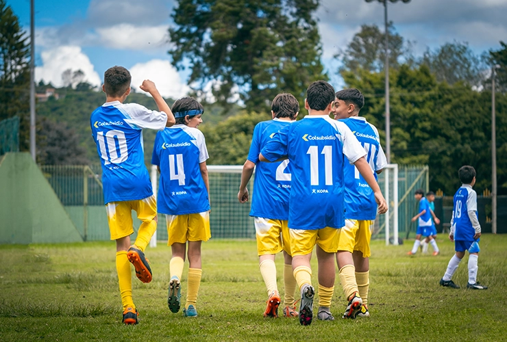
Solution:
<svg viewBox="0 0 507 342">
<path fill-rule="evenodd" d="M 417 253 L 417 249 L 421 246 L 421 236 L 423 236 L 426 239 L 429 239 L 430 244 L 433 247 L 433 255 L 438 255 L 440 254 L 440 250 L 438 250 L 436 241 L 432 237 L 432 226 L 434 226 L 432 216 L 434 220 L 438 220 L 438 218 L 436 218 L 435 214 L 430 209 L 430 203 L 424 197 L 423 189 L 417 189 L 414 197 L 416 200 L 419 200 L 419 213 L 412 218 L 412 222 L 417 220 L 417 232 L 414 246 L 407 254 L 414 255 Z"/>
</svg>

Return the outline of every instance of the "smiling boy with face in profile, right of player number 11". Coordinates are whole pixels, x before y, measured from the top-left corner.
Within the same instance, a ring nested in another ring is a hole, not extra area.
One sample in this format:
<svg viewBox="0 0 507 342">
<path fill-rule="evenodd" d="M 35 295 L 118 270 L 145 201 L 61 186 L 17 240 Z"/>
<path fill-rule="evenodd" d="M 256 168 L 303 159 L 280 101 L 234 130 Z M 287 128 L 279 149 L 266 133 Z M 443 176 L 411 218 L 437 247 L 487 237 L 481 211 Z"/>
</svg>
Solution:
<svg viewBox="0 0 507 342">
<path fill-rule="evenodd" d="M 380 145 L 378 130 L 366 118 L 359 116 L 364 106 L 364 96 L 355 89 L 336 92 L 333 114 L 356 135 L 366 151 L 371 173 L 377 174 L 387 166 L 386 155 Z M 373 190 L 354 165 L 345 165 L 345 226 L 340 229 L 338 252 L 338 276 L 349 304 L 344 318 L 369 317 L 369 257 L 373 222 L 377 216 L 377 203 Z M 362 305 L 358 305 L 362 299 Z"/>
</svg>

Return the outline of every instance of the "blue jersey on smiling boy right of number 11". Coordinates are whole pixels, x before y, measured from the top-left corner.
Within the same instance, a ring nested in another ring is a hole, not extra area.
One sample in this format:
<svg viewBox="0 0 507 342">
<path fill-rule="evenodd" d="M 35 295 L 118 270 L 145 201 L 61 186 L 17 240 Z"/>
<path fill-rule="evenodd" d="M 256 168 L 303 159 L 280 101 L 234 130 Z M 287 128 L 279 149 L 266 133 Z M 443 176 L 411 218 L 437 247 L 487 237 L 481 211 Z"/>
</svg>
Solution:
<svg viewBox="0 0 507 342">
<path fill-rule="evenodd" d="M 386 155 L 380 145 L 378 130 L 366 118 L 353 116 L 340 120 L 356 135 L 366 151 L 366 160 L 377 180 L 378 170 L 387 166 Z M 377 203 L 373 190 L 364 181 L 356 166 L 345 163 L 345 218 L 350 220 L 375 220 Z"/>
</svg>

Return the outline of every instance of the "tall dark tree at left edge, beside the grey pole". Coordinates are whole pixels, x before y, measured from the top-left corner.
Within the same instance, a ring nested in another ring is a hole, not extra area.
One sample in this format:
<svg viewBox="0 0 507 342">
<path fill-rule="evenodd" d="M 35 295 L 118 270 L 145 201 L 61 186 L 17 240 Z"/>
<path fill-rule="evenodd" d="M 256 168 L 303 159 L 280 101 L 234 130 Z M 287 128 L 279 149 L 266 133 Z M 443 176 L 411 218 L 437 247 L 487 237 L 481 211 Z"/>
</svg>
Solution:
<svg viewBox="0 0 507 342">
<path fill-rule="evenodd" d="M 0 0 L 0 120 L 19 116 L 20 150 L 29 150 L 29 42 L 12 8 Z"/>
</svg>

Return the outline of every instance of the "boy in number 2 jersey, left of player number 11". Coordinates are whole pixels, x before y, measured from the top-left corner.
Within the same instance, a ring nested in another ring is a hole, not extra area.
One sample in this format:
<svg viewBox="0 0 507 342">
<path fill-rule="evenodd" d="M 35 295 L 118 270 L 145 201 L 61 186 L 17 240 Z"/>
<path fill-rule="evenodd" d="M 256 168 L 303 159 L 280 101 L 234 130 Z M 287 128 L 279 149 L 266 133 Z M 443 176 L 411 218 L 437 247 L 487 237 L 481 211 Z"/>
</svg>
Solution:
<svg viewBox="0 0 507 342">
<path fill-rule="evenodd" d="M 299 102 L 292 94 L 278 94 L 271 103 L 273 120 L 259 122 L 253 129 L 248 159 L 243 165 L 238 200 L 247 202 L 247 185 L 256 168 L 253 181 L 253 198 L 250 216 L 256 227 L 259 269 L 268 291 L 267 307 L 264 317 L 277 317 L 280 305 L 280 292 L 276 283 L 275 254 L 284 252 L 284 317 L 297 317 L 294 305 L 296 280 L 292 269 L 292 257 L 288 235 L 288 196 L 290 176 L 288 160 L 277 163 L 261 163 L 259 153 L 271 140 L 273 134 L 295 122 L 299 112 Z"/>
</svg>

